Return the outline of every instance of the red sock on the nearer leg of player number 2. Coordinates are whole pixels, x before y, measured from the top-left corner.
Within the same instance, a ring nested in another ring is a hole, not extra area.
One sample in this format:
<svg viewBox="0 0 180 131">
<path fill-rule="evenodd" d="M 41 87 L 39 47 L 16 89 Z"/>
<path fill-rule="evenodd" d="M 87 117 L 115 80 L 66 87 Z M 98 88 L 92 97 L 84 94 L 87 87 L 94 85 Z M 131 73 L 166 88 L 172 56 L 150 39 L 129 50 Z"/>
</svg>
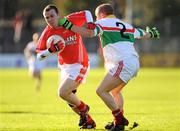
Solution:
<svg viewBox="0 0 180 131">
<path fill-rule="evenodd" d="M 112 114 L 115 118 L 115 124 L 123 124 L 123 112 L 120 109 L 112 111 Z"/>
</svg>

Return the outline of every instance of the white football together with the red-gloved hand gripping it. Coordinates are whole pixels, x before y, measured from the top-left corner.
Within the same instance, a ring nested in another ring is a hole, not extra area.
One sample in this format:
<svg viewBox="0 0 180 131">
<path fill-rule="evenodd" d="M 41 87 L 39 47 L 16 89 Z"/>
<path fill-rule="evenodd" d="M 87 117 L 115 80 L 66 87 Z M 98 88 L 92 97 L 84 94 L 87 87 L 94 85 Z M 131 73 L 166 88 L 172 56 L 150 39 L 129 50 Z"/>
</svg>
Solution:
<svg viewBox="0 0 180 131">
<path fill-rule="evenodd" d="M 50 53 L 62 52 L 65 48 L 65 40 L 59 35 L 52 35 L 46 41 L 46 47 Z"/>
</svg>

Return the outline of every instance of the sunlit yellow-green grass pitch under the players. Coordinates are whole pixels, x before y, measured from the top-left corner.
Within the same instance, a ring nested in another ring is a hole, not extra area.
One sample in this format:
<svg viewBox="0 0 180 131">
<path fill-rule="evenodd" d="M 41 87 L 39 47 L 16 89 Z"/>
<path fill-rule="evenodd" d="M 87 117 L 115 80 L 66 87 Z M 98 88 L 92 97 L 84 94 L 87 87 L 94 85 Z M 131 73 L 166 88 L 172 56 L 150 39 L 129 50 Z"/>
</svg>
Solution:
<svg viewBox="0 0 180 131">
<path fill-rule="evenodd" d="M 97 131 L 113 118 L 96 95 L 104 69 L 92 69 L 78 96 L 91 107 Z M 27 69 L 0 69 L 0 131 L 78 131 L 79 117 L 57 96 L 58 71 L 44 69 L 40 92 Z M 180 131 L 180 68 L 141 68 L 123 89 L 134 131 Z M 129 130 L 126 127 L 126 130 Z"/>
</svg>

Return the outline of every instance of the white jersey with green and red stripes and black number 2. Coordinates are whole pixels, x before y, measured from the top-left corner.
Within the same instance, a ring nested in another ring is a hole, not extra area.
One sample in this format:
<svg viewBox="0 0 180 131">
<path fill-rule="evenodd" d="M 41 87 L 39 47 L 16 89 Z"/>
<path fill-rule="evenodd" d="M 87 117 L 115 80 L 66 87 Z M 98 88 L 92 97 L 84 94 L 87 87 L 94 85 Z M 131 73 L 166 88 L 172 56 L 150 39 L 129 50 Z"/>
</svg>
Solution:
<svg viewBox="0 0 180 131">
<path fill-rule="evenodd" d="M 145 35 L 143 30 L 136 29 L 113 15 L 97 20 L 96 25 L 105 63 L 118 63 L 131 56 L 139 57 L 134 41 Z"/>
</svg>

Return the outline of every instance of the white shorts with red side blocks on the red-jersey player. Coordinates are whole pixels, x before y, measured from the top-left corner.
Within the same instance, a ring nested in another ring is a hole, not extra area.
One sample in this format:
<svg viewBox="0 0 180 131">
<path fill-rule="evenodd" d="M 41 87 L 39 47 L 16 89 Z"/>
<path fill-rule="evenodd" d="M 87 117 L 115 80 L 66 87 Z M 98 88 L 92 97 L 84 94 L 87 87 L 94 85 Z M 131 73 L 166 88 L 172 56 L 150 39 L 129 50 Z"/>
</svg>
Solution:
<svg viewBox="0 0 180 131">
<path fill-rule="evenodd" d="M 64 64 L 59 65 L 61 70 L 61 81 L 69 78 L 75 80 L 78 83 L 85 83 L 86 77 L 89 73 L 90 65 L 83 66 L 82 64 Z"/>
</svg>

